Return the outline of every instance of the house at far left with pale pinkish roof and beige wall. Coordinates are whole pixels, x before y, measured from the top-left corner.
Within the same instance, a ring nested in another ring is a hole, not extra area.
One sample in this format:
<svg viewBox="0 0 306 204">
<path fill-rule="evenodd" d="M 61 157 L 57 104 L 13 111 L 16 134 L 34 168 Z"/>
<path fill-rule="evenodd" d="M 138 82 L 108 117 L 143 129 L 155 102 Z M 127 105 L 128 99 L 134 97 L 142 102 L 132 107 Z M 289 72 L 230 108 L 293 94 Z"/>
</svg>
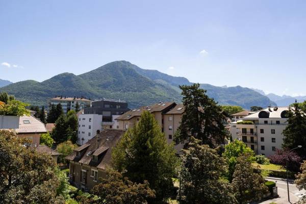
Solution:
<svg viewBox="0 0 306 204">
<path fill-rule="evenodd" d="M 14 129 L 17 137 L 29 138 L 34 146 L 39 145 L 40 135 L 47 133 L 45 125 L 33 116 L 19 117 L 19 128 Z"/>
</svg>

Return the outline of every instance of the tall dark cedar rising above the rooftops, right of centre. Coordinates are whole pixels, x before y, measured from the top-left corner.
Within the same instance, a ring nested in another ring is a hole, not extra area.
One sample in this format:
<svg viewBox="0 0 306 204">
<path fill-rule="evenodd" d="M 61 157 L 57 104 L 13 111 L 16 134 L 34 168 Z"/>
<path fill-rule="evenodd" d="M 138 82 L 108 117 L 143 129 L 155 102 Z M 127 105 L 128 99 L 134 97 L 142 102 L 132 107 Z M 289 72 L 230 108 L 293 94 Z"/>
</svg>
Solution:
<svg viewBox="0 0 306 204">
<path fill-rule="evenodd" d="M 185 112 L 174 141 L 186 142 L 193 136 L 201 140 L 202 144 L 213 147 L 216 143 L 224 143 L 226 131 L 222 120 L 225 116 L 222 108 L 206 95 L 206 90 L 200 89 L 199 86 L 199 84 L 180 86 Z"/>
</svg>

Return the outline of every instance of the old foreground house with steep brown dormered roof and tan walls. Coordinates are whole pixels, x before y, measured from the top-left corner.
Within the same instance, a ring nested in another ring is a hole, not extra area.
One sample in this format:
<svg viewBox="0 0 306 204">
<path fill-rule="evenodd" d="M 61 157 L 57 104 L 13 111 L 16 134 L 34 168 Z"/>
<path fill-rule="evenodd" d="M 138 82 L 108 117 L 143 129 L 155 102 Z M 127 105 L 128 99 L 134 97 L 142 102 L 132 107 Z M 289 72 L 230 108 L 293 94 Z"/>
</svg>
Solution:
<svg viewBox="0 0 306 204">
<path fill-rule="evenodd" d="M 83 191 L 89 191 L 97 184 L 99 177 L 105 177 L 106 169 L 111 166 L 112 148 L 121 139 L 124 131 L 104 130 L 73 150 L 69 160 L 69 182 Z"/>
</svg>

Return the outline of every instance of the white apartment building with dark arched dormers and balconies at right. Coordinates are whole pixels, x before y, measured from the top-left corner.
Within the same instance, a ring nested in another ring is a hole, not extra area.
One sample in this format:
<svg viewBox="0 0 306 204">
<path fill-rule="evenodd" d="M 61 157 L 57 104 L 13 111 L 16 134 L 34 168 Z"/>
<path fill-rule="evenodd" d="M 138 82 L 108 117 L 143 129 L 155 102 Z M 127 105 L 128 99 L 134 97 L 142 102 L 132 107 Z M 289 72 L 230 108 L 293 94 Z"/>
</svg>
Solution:
<svg viewBox="0 0 306 204">
<path fill-rule="evenodd" d="M 233 139 L 246 143 L 258 155 L 274 155 L 281 149 L 283 131 L 288 125 L 289 107 L 268 107 L 231 123 Z"/>
</svg>

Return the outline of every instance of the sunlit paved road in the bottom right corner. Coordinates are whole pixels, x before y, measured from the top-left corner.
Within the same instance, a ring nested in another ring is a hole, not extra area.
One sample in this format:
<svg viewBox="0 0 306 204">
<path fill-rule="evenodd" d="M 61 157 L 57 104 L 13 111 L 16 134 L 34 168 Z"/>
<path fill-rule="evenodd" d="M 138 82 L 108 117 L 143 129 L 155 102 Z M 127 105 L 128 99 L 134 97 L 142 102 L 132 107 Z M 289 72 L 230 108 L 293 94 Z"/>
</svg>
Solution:
<svg viewBox="0 0 306 204">
<path fill-rule="evenodd" d="M 286 180 L 274 179 L 274 178 L 271 178 L 271 177 L 269 177 L 269 179 L 266 178 L 266 180 L 276 182 L 279 197 L 261 202 L 262 204 L 269 204 L 271 202 L 275 202 L 277 204 L 290 203 L 288 201 Z M 306 191 L 305 190 L 299 191 L 292 181 L 289 183 L 289 195 L 290 195 L 291 203 L 297 202 L 299 200 L 299 198 L 302 197 L 305 194 L 306 194 Z"/>
</svg>

